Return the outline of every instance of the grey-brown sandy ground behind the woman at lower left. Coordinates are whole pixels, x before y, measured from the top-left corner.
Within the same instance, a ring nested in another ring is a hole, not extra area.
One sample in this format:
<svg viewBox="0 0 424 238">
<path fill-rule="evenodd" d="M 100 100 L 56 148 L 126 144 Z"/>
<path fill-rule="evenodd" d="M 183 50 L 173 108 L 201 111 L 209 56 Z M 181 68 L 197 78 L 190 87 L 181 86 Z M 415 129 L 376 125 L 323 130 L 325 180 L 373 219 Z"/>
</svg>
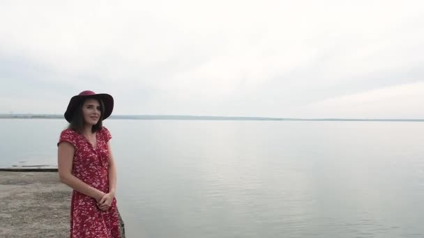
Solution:
<svg viewBox="0 0 424 238">
<path fill-rule="evenodd" d="M 0 237 L 69 237 L 72 189 L 54 172 L 0 172 Z"/>
</svg>

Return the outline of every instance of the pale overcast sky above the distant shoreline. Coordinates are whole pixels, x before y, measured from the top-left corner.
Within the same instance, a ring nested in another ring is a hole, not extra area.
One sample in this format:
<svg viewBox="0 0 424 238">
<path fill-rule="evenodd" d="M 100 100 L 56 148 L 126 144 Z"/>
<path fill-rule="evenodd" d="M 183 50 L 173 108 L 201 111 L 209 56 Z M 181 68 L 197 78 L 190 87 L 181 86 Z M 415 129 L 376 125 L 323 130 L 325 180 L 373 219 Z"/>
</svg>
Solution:
<svg viewBox="0 0 424 238">
<path fill-rule="evenodd" d="M 424 1 L 0 1 L 0 113 L 424 118 Z"/>
</svg>

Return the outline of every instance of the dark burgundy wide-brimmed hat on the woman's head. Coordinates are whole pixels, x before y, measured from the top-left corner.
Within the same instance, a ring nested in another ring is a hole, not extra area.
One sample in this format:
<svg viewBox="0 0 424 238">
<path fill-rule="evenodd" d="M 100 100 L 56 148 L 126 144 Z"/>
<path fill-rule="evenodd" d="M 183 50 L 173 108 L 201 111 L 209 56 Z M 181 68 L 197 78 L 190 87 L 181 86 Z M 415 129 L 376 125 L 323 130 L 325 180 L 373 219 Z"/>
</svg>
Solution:
<svg viewBox="0 0 424 238">
<path fill-rule="evenodd" d="M 94 98 L 103 101 L 103 104 L 105 104 L 105 109 L 103 110 L 102 120 L 105 120 L 110 116 L 110 114 L 112 114 L 112 111 L 114 110 L 114 98 L 111 95 L 107 93 L 94 93 L 93 91 L 86 90 L 79 93 L 79 95 L 73 96 L 70 99 L 68 109 L 66 109 L 65 112 L 65 119 L 68 122 L 72 121 L 73 114 L 75 109 L 77 109 L 77 106 L 82 102 L 82 100 L 87 98 Z"/>
</svg>

